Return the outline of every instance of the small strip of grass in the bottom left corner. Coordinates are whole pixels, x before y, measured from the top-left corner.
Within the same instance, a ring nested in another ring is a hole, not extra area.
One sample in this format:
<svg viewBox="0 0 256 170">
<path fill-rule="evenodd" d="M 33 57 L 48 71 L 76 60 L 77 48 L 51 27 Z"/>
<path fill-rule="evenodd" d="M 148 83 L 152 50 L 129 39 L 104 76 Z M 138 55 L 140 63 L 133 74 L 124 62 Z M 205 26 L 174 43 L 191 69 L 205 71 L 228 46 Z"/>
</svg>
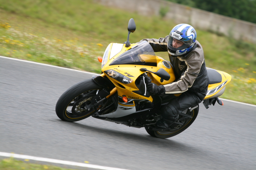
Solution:
<svg viewBox="0 0 256 170">
<path fill-rule="evenodd" d="M 28 161 L 28 159 L 25 159 Z M 57 166 L 25 163 L 21 160 L 8 158 L 0 160 L 0 170 L 72 170 Z"/>
</svg>

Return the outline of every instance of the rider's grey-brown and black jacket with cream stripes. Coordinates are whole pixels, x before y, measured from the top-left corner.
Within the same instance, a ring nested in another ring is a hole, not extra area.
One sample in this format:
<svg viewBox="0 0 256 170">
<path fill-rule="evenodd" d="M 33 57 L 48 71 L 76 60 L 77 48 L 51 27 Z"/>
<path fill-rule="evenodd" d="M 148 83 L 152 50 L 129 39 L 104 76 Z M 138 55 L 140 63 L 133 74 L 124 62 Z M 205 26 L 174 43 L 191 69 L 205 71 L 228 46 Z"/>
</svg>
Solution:
<svg viewBox="0 0 256 170">
<path fill-rule="evenodd" d="M 168 51 L 168 39 L 169 35 L 165 38 L 143 39 L 141 41 L 148 41 L 155 52 L 164 52 Z M 204 93 L 204 89 L 208 86 L 209 81 L 204 63 L 204 51 L 198 41 L 196 41 L 192 51 L 188 54 L 177 57 L 172 57 L 169 54 L 169 59 L 173 65 L 176 80 L 175 82 L 164 85 L 165 93 L 182 93 L 188 90 Z"/>
</svg>

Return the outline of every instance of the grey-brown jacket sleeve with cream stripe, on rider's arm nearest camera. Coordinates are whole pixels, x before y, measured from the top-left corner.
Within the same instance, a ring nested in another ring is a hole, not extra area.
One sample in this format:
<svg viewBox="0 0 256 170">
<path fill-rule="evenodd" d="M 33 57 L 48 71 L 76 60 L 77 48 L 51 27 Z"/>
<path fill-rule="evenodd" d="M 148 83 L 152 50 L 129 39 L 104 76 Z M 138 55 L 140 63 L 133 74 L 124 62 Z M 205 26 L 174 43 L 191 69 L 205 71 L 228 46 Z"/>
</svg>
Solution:
<svg viewBox="0 0 256 170">
<path fill-rule="evenodd" d="M 180 57 L 177 57 L 177 58 L 182 60 Z M 165 93 L 174 94 L 174 93 L 186 92 L 188 88 L 190 88 L 193 85 L 194 81 L 196 80 L 201 70 L 201 66 L 204 63 L 204 60 L 202 62 L 201 60 L 192 59 L 192 60 L 189 60 L 188 62 L 185 61 L 185 63 L 188 67 L 182 73 L 182 76 L 179 78 L 179 80 L 171 84 L 164 85 Z"/>
</svg>

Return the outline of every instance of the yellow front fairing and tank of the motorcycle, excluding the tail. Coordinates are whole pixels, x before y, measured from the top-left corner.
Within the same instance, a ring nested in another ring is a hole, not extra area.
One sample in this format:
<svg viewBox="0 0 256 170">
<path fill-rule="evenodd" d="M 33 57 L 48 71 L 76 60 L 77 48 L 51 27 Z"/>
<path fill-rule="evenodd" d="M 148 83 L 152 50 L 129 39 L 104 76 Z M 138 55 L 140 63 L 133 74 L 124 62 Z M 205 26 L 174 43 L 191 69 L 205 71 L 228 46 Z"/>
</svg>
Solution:
<svg viewBox="0 0 256 170">
<path fill-rule="evenodd" d="M 136 91 L 136 90 L 139 90 L 137 88 L 137 86 L 135 85 L 135 80 L 144 72 L 140 71 L 140 68 L 146 68 L 150 71 L 154 71 L 156 72 L 157 70 L 159 70 L 160 68 L 163 68 L 164 70 L 166 70 L 171 78 L 166 81 L 164 80 L 163 82 L 161 82 L 161 78 L 156 76 L 155 74 L 152 74 L 152 73 L 148 73 L 148 76 L 152 79 L 152 82 L 157 84 L 157 85 L 165 85 L 165 84 L 168 84 L 168 83 L 171 83 L 175 80 L 175 76 L 174 76 L 174 72 L 173 72 L 173 69 L 168 69 L 166 68 L 162 62 L 164 61 L 163 58 L 161 57 L 158 57 L 158 56 L 155 56 L 155 55 L 140 55 L 139 58 L 140 60 L 142 61 L 148 61 L 150 62 L 150 60 L 154 60 L 157 62 L 157 66 L 154 67 L 154 66 L 146 66 L 146 65 L 132 65 L 132 64 L 121 64 L 121 65 L 111 65 L 109 66 L 109 64 L 115 60 L 116 57 L 118 57 L 119 55 L 123 54 L 125 51 L 127 51 L 128 49 L 132 48 L 133 46 L 135 46 L 137 44 L 131 44 L 130 47 L 126 48 L 125 47 L 125 44 L 123 45 L 122 47 L 122 50 L 117 53 L 115 56 L 113 56 L 111 59 L 109 59 L 109 55 L 110 55 L 110 51 L 111 51 L 111 48 L 113 46 L 113 43 L 110 44 L 110 48 L 109 48 L 109 52 L 108 52 L 108 61 L 107 63 L 104 65 L 104 67 L 102 68 L 102 72 L 104 73 L 105 70 L 115 70 L 121 74 L 123 74 L 124 76 L 126 77 L 129 77 L 133 80 L 132 83 L 129 83 L 129 84 L 123 84 L 117 80 L 115 80 L 114 78 L 110 78 L 107 74 L 105 74 L 109 79 L 110 81 L 112 81 L 114 83 L 114 85 L 116 86 L 116 89 L 117 89 L 117 92 L 118 92 L 118 96 L 123 96 L 125 95 L 127 98 L 130 98 L 130 99 L 137 99 L 137 100 L 144 100 L 146 99 L 146 101 L 148 102 L 152 102 L 153 99 L 152 97 L 145 97 L 143 95 L 140 95 L 140 94 L 136 94 L 132 91 Z M 125 88 L 123 88 L 123 87 Z M 120 104 L 120 103 L 119 103 Z M 134 103 L 133 103 L 134 104 Z M 122 104 L 121 104 L 122 105 Z M 126 105 L 124 105 L 126 106 Z M 128 106 L 128 105 L 127 105 Z M 129 105 L 131 106 L 131 105 Z M 132 105 L 134 106 L 134 105 Z"/>
</svg>

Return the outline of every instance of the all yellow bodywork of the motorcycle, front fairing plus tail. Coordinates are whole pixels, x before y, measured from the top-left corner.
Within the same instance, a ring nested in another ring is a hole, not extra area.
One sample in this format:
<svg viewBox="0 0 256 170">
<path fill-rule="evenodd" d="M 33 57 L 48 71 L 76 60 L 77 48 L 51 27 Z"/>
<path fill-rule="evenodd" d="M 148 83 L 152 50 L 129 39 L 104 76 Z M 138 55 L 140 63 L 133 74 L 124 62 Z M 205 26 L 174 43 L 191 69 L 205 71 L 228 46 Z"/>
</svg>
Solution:
<svg viewBox="0 0 256 170">
<path fill-rule="evenodd" d="M 125 44 L 115 44 L 115 46 L 118 46 L 119 49 L 115 49 L 113 51 L 115 51 L 115 55 L 111 54 L 111 50 L 113 47 L 113 43 L 110 44 L 109 46 L 109 51 L 108 51 L 108 60 L 106 62 L 106 64 L 103 66 L 102 68 L 102 72 L 103 74 L 104 71 L 106 70 L 115 70 L 117 72 L 119 72 L 120 74 L 129 77 L 133 80 L 132 83 L 129 84 L 123 84 L 119 81 L 117 81 L 114 78 L 109 77 L 107 74 L 105 74 L 105 76 L 107 76 L 110 81 L 113 82 L 113 84 L 116 86 L 117 92 L 118 92 L 118 96 L 122 97 L 123 95 L 125 95 L 128 99 L 135 99 L 135 100 L 144 100 L 144 102 L 152 102 L 153 99 L 151 96 L 149 97 L 145 97 L 140 94 L 134 93 L 132 91 L 137 91 L 139 90 L 137 88 L 137 86 L 135 85 L 135 80 L 144 72 L 140 71 L 141 68 L 146 68 L 147 70 L 156 72 L 157 70 L 159 70 L 160 68 L 164 69 L 165 71 L 167 71 L 171 78 L 166 81 L 166 80 L 161 80 L 160 77 L 156 76 L 153 73 L 148 72 L 148 76 L 152 79 L 152 82 L 155 83 L 156 85 L 166 85 L 169 84 L 171 82 L 173 82 L 175 80 L 175 76 L 174 76 L 174 71 L 172 68 L 168 69 L 163 65 L 163 61 L 165 61 L 163 58 L 155 56 L 155 55 L 144 55 L 144 54 L 140 54 L 138 55 L 138 58 L 141 62 L 148 62 L 148 63 L 157 63 L 157 66 L 147 66 L 147 65 L 133 65 L 133 64 L 120 64 L 120 65 L 109 65 L 110 63 L 112 63 L 119 55 L 123 54 L 125 51 L 129 50 L 130 48 L 136 46 L 137 44 L 131 44 L 130 47 L 126 48 Z M 221 89 L 223 89 L 225 87 L 225 85 L 230 82 L 231 80 L 231 76 L 228 73 L 225 73 L 223 71 L 219 71 L 216 70 L 217 72 L 219 72 L 221 74 L 222 77 L 222 81 L 220 83 L 216 83 L 216 84 L 210 84 L 208 86 L 208 91 L 207 91 L 207 95 L 204 99 L 208 99 L 211 97 L 215 97 L 216 95 L 219 95 L 221 92 Z M 162 81 L 162 82 L 161 82 Z M 223 89 L 224 91 L 224 89 Z M 220 92 L 218 94 L 218 92 Z M 222 94 L 222 93 L 221 93 Z M 220 94 L 220 95 L 221 95 Z M 179 95 L 179 94 L 177 94 Z M 120 105 L 123 106 L 135 106 L 134 105 L 134 101 L 133 101 L 133 105 L 125 105 L 125 104 L 121 104 Z"/>
</svg>

